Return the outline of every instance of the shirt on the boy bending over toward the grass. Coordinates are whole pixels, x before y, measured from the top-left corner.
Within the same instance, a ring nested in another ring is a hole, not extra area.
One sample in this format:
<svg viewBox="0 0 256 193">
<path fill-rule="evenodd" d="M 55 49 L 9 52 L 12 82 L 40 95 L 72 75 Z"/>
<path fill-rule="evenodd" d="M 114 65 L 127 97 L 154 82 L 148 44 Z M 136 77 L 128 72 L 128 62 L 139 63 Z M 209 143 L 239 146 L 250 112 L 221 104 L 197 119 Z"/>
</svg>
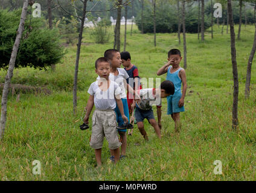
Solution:
<svg viewBox="0 0 256 193">
<path fill-rule="evenodd" d="M 139 103 L 136 103 L 136 106 L 142 110 L 150 110 L 152 106 L 161 107 L 162 100 L 161 100 L 161 93 L 156 93 L 154 95 L 155 89 L 141 89 L 138 90 L 139 96 L 141 96 L 141 100 Z"/>
</svg>

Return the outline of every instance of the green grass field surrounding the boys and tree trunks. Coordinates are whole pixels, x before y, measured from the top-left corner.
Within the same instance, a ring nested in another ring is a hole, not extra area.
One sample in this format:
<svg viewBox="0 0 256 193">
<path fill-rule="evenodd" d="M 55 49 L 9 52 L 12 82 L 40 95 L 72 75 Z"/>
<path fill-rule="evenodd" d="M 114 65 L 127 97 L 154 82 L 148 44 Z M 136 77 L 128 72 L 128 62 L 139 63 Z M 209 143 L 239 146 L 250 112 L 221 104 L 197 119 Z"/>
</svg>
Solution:
<svg viewBox="0 0 256 193">
<path fill-rule="evenodd" d="M 130 27 L 129 27 L 130 29 Z M 122 29 L 123 30 L 123 29 Z M 237 26 L 235 32 L 237 33 Z M 214 26 L 214 39 L 206 32 L 205 42 L 197 34 L 187 34 L 186 112 L 181 114 L 182 130 L 174 133 L 174 122 L 166 115 L 163 101 L 162 140 L 146 121 L 149 142 L 138 128 L 127 137 L 127 157 L 110 163 L 107 142 L 103 147 L 103 167 L 96 169 L 94 150 L 89 145 L 91 130 L 81 131 L 87 90 L 95 81 L 94 62 L 113 42 L 98 45 L 88 30 L 82 45 L 78 74 L 78 113 L 72 115 L 72 84 L 76 46 L 66 55 L 56 72 L 15 69 L 12 83 L 45 86 L 53 93 L 21 93 L 8 98 L 4 139 L 0 142 L 0 180 L 256 180 L 256 66 L 252 65 L 251 96 L 245 100 L 248 57 L 254 39 L 254 26 L 242 27 L 242 40 L 236 42 L 240 83 L 239 127 L 232 131 L 232 65 L 230 35 Z M 127 51 L 138 66 L 139 75 L 156 78 L 167 61 L 167 52 L 179 48 L 177 34 L 127 31 Z M 123 42 L 123 38 L 122 38 Z M 123 45 L 122 45 L 123 49 Z M 181 63 L 183 66 L 183 63 Z M 6 72 L 0 72 L 1 83 Z M 165 75 L 161 76 L 162 80 Z M 156 110 L 154 110 L 156 112 Z M 76 122 L 79 120 L 78 122 Z M 33 174 L 33 160 L 41 162 L 41 175 Z M 222 161 L 222 175 L 214 174 L 214 160 Z"/>
</svg>

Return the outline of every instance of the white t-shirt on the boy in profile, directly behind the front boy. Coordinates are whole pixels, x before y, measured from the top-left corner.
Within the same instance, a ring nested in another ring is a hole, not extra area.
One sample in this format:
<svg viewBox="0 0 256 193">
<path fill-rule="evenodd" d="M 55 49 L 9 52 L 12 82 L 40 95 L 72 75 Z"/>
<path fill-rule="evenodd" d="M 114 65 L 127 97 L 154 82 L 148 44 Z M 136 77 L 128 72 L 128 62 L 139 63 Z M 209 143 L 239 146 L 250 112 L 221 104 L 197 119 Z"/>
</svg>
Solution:
<svg viewBox="0 0 256 193">
<path fill-rule="evenodd" d="M 118 75 L 115 76 L 114 73 L 109 74 L 109 80 L 115 81 L 115 83 L 120 86 L 120 89 L 122 90 L 121 98 L 127 98 L 126 96 L 126 89 L 124 88 L 124 82 L 126 82 L 127 78 L 130 78 L 127 74 L 126 70 L 123 68 L 117 68 Z M 99 80 L 100 77 L 97 78 Z"/>
</svg>

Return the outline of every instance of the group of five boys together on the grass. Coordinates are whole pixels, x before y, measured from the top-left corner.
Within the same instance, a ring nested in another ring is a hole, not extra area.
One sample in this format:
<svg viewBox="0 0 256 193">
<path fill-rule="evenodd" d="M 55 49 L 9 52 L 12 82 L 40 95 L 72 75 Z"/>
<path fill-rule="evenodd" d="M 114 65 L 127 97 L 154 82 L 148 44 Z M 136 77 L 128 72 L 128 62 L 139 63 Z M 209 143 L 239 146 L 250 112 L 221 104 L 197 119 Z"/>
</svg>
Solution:
<svg viewBox="0 0 256 193">
<path fill-rule="evenodd" d="M 104 137 L 109 143 L 112 162 L 117 163 L 126 156 L 126 131 L 133 128 L 129 120 L 134 111 L 136 123 L 144 139 L 148 140 L 143 124 L 144 119 L 149 121 L 158 138 L 161 139 L 161 98 L 167 98 L 167 113 L 175 122 L 175 130 L 179 131 L 181 128 L 179 112 L 184 112 L 184 98 L 187 90 L 185 71 L 179 66 L 181 60 L 181 52 L 178 49 L 171 49 L 168 52 L 168 63 L 157 73 L 158 75 L 167 73 L 167 80 L 163 81 L 159 88 L 142 89 L 138 68 L 132 65 L 129 52 L 120 53 L 116 49 L 108 49 L 104 57 L 97 59 L 95 72 L 98 78 L 89 87 L 90 96 L 83 121 L 85 124 L 89 123 L 89 115 L 95 106 L 90 145 L 95 150 L 98 166 L 101 166 Z M 124 69 L 121 68 L 122 64 Z M 183 84 L 182 92 L 181 83 Z M 152 106 L 157 106 L 158 122 Z"/>
</svg>

